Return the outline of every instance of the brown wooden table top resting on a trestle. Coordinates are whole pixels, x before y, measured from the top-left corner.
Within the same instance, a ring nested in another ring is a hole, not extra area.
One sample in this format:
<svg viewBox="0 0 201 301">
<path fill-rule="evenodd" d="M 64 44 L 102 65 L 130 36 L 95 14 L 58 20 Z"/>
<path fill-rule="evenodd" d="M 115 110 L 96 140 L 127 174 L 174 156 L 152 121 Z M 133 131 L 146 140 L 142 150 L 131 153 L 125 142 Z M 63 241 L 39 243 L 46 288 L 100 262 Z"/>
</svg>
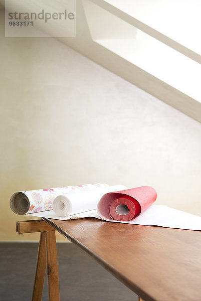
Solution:
<svg viewBox="0 0 201 301">
<path fill-rule="evenodd" d="M 145 301 L 201 300 L 200 231 L 95 218 L 44 220 Z"/>
</svg>

